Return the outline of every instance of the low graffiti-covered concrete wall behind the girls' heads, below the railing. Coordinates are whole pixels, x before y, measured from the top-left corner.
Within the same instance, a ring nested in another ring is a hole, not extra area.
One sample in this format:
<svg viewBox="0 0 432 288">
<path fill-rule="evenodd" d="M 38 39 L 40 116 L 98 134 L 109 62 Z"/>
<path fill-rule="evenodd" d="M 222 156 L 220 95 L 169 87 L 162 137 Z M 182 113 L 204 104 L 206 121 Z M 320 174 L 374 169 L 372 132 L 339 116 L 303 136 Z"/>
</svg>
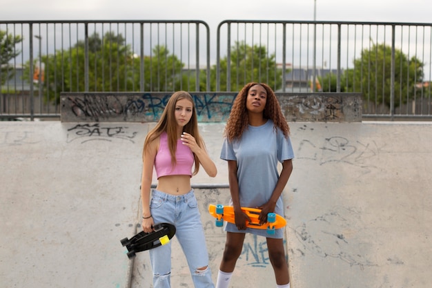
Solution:
<svg viewBox="0 0 432 288">
<path fill-rule="evenodd" d="M 172 93 L 61 93 L 61 122 L 157 122 Z M 191 93 L 199 122 L 226 122 L 237 93 Z M 277 93 L 288 122 L 361 122 L 360 93 Z"/>
</svg>

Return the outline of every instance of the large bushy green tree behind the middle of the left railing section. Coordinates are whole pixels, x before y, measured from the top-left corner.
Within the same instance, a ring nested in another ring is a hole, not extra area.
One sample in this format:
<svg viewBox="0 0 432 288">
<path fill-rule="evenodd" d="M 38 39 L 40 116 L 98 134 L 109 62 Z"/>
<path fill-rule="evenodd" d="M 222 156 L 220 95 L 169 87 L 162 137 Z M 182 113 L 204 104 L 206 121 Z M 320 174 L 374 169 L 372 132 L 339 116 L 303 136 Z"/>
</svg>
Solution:
<svg viewBox="0 0 432 288">
<path fill-rule="evenodd" d="M 96 33 L 89 37 L 88 77 L 90 91 L 128 91 L 132 70 L 132 51 L 122 37 L 112 37 L 108 32 L 104 39 Z M 68 50 L 57 50 L 54 55 L 42 57 L 46 67 L 45 88 L 52 97 L 61 91 L 86 90 L 85 47 L 79 41 Z M 50 97 L 50 98 L 52 98 Z M 55 97 L 57 99 L 57 97 Z"/>
</svg>

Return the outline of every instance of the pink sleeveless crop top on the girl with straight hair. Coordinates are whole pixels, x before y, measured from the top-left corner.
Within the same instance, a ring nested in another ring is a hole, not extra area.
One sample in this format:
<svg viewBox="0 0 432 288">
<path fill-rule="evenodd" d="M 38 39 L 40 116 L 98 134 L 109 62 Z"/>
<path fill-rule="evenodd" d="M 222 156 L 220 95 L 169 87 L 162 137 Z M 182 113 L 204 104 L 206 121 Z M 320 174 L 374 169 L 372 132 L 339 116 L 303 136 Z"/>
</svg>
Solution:
<svg viewBox="0 0 432 288">
<path fill-rule="evenodd" d="M 157 178 L 167 175 L 189 175 L 192 177 L 192 165 L 195 159 L 190 148 L 182 144 L 181 140 L 177 140 L 177 149 L 175 151 L 177 165 L 173 167 L 171 165 L 170 149 L 168 148 L 168 135 L 164 132 L 160 138 L 159 150 L 155 158 Z"/>
</svg>

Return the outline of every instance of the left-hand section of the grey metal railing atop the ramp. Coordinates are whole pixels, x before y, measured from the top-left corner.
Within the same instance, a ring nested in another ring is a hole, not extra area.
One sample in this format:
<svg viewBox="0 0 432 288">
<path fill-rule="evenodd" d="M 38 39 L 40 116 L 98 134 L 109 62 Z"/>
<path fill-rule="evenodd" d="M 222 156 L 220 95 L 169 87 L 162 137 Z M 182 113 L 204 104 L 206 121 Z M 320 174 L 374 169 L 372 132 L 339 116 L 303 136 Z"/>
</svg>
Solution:
<svg viewBox="0 0 432 288">
<path fill-rule="evenodd" d="M 3 118 L 59 117 L 61 92 L 210 90 L 203 21 L 3 21 L 0 31 L 17 54 L 0 70 Z"/>
</svg>

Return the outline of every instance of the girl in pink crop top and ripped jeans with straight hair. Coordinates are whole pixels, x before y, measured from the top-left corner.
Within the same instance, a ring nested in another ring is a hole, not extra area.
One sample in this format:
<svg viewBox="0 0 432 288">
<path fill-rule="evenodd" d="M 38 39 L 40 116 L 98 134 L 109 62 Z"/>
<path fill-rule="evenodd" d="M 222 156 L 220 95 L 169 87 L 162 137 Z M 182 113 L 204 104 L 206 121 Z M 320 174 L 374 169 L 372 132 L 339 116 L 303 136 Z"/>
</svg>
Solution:
<svg viewBox="0 0 432 288">
<path fill-rule="evenodd" d="M 150 233 L 155 223 L 174 224 L 175 236 L 188 261 L 195 288 L 214 288 L 201 215 L 190 186 L 190 178 L 198 173 L 200 166 L 210 177 L 216 176 L 216 165 L 199 135 L 193 99 L 186 91 L 178 91 L 170 97 L 161 119 L 144 142 L 142 227 L 144 232 Z M 150 191 L 153 168 L 157 186 Z M 171 242 L 151 249 L 150 262 L 153 287 L 171 287 Z"/>
</svg>

